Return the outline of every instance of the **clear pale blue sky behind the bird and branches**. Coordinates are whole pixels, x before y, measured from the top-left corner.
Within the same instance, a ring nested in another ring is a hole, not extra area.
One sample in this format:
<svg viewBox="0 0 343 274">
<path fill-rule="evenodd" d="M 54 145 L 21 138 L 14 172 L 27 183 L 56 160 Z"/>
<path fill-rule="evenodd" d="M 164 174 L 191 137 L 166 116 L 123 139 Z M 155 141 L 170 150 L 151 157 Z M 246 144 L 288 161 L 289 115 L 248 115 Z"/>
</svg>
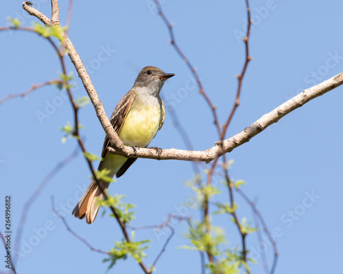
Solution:
<svg viewBox="0 0 343 274">
<path fill-rule="evenodd" d="M 244 62 L 245 1 L 161 1 L 174 23 L 176 41 L 198 69 L 209 97 L 224 123 L 233 105 L 237 79 Z M 130 90 L 143 66 L 152 65 L 175 73 L 163 87 L 166 105 L 173 105 L 194 149 L 212 147 L 217 140 L 213 117 L 193 77 L 169 45 L 169 35 L 156 14 L 152 0 L 78 3 L 73 5 L 69 37 L 86 65 L 97 93 L 110 115 Z M 244 79 L 241 105 L 228 136 L 250 125 L 263 114 L 292 98 L 304 88 L 342 72 L 342 8 L 340 1 L 251 1 L 255 23 L 250 37 L 250 62 Z M 51 14 L 49 1 L 34 7 Z M 19 17 L 23 25 L 38 20 L 28 16 L 21 1 L 6 1 L 0 25 L 7 16 Z M 67 18 L 67 1 L 60 3 L 60 21 Z M 1 32 L 0 98 L 23 92 L 32 84 L 56 79 L 60 64 L 47 41 L 36 34 Z M 68 60 L 68 59 L 67 59 Z M 86 95 L 73 66 L 75 97 Z M 235 149 L 231 177 L 244 179 L 244 192 L 257 199 L 258 209 L 276 236 L 280 257 L 276 273 L 334 273 L 340 266 L 343 236 L 342 208 L 342 90 L 337 88 L 285 116 Z M 52 105 L 52 106 L 51 106 Z M 38 113 L 47 114 L 39 119 Z M 54 86 L 36 90 L 25 99 L 0 105 L 0 182 L 2 197 L 12 195 L 14 236 L 25 201 L 45 175 L 75 149 L 75 140 L 62 144 L 60 128 L 73 121 L 71 105 Z M 91 105 L 80 110 L 82 136 L 88 151 L 101 153 L 104 131 Z M 185 149 L 180 135 L 166 115 L 165 125 L 152 145 Z M 95 164 L 96 165 L 96 164 Z M 23 231 L 19 273 L 104 273 L 102 254 L 90 251 L 75 239 L 51 212 L 56 208 L 82 238 L 96 248 L 108 250 L 121 232 L 115 220 L 97 217 L 87 225 L 71 216 L 81 191 L 90 183 L 86 162 L 78 155 L 45 187 L 29 209 Z M 184 206 L 193 195 L 185 182 L 193 177 L 189 162 L 138 160 L 113 186 L 110 193 L 126 195 L 134 203 L 134 226 L 158 225 L 168 214 L 199 218 L 198 210 Z M 4 198 L 2 198 L 4 199 Z M 220 197 L 224 201 L 226 192 Z M 239 199 L 239 218 L 252 221 L 250 208 Z M 4 210 L 0 210 L 4 212 Z M 4 218 L 1 215 L 1 218 Z M 214 219 L 223 227 L 230 247 L 239 245 L 236 228 L 226 219 Z M 2 222 L 3 223 L 3 222 Z M 0 227 L 3 231 L 3 227 Z M 175 223 L 176 234 L 156 265 L 157 273 L 200 273 L 200 256 L 177 249 L 186 245 L 185 223 Z M 167 230 L 165 231 L 167 232 Z M 146 264 L 151 264 L 167 236 L 153 229 L 137 232 L 137 240 L 152 239 Z M 268 262 L 272 248 L 265 241 Z M 260 249 L 256 235 L 248 236 L 248 248 Z M 1 249 L 3 254 L 3 249 Z M 252 254 L 254 254 L 252 252 Z M 264 273 L 259 252 L 252 273 Z M 4 263 L 0 270 L 5 271 Z M 118 262 L 110 274 L 141 273 L 129 258 Z"/>
</svg>

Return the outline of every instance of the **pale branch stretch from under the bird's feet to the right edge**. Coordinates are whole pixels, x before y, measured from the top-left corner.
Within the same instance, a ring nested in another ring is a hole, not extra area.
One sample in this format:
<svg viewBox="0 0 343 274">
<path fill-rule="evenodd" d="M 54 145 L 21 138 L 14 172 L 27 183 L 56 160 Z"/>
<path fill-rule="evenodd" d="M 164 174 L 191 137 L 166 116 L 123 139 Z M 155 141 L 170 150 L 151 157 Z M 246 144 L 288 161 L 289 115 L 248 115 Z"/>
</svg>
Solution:
<svg viewBox="0 0 343 274">
<path fill-rule="evenodd" d="M 343 73 L 340 73 L 316 86 L 313 86 L 312 88 L 307 88 L 292 99 L 289 99 L 282 105 L 279 105 L 279 107 L 275 108 L 268 114 L 264 114 L 259 120 L 246 127 L 242 132 L 239 132 L 239 134 L 224 140 L 222 142 L 222 147 L 220 142 L 216 142 L 214 147 L 211 147 L 211 149 L 207 149 L 205 151 L 163 149 L 161 157 L 158 157 L 158 153 L 155 149 L 141 148 L 134 153 L 130 147 L 123 147 L 123 151 L 115 151 L 115 149 L 109 149 L 109 151 L 110 153 L 137 158 L 211 162 L 216 155 L 223 155 L 226 152 L 233 151 L 233 149 L 243 145 L 245 142 L 248 142 L 252 137 L 256 136 L 260 132 L 263 132 L 263 130 L 273 123 L 278 122 L 281 118 L 283 118 L 283 116 L 289 114 L 289 112 L 300 108 L 301 106 L 305 105 L 305 103 L 315 99 L 320 95 L 324 95 L 326 92 L 329 92 L 330 90 L 333 90 L 342 84 Z"/>
</svg>

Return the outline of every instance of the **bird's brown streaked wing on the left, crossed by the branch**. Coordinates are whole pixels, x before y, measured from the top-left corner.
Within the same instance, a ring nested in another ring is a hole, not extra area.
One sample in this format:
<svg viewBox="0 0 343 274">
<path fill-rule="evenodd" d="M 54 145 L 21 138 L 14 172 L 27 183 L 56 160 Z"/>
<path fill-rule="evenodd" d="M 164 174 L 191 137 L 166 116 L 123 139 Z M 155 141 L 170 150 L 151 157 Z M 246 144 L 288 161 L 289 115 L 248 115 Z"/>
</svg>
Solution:
<svg viewBox="0 0 343 274">
<path fill-rule="evenodd" d="M 121 98 L 118 105 L 115 107 L 115 110 L 113 111 L 113 114 L 110 117 L 110 123 L 115 129 L 115 132 L 118 133 L 121 127 L 123 126 L 126 116 L 128 115 L 128 112 L 131 108 L 134 97 L 135 97 L 134 92 L 130 90 L 128 93 L 126 93 L 126 95 L 123 98 Z M 107 154 L 107 148 L 109 146 L 110 146 L 110 139 L 108 139 L 108 136 L 106 135 L 105 141 L 104 141 L 104 147 L 102 147 L 102 158 L 105 158 Z M 102 165 L 102 162 L 100 162 L 99 168 L 101 165 Z"/>
</svg>

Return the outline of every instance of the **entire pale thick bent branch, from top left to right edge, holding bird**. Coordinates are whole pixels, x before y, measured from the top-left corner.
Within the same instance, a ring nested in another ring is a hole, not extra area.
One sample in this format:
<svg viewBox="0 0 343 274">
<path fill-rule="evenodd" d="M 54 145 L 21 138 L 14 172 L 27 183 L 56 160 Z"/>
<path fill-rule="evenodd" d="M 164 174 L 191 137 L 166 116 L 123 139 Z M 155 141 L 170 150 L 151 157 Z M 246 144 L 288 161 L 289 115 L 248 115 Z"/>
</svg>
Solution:
<svg viewBox="0 0 343 274">
<path fill-rule="evenodd" d="M 47 16 L 43 15 L 38 10 L 26 5 L 23 2 L 23 8 L 29 14 L 36 16 L 40 19 L 45 25 L 51 26 L 53 23 L 47 18 Z M 263 115 L 259 120 L 255 123 L 246 127 L 243 132 L 236 134 L 235 136 L 228 138 L 222 142 L 216 142 L 214 147 L 207 149 L 205 151 L 186 151 L 180 149 L 165 149 L 162 151 L 161 155 L 158 155 L 158 151 L 155 149 L 138 149 L 136 152 L 131 147 L 126 147 L 123 145 L 123 142 L 119 138 L 118 134 L 113 129 L 108 116 L 104 110 L 102 102 L 100 101 L 99 97 L 97 96 L 97 92 L 91 82 L 91 78 L 89 77 L 82 61 L 80 60 L 80 56 L 78 52 L 75 50 L 75 47 L 69 40 L 68 36 L 63 33 L 64 37 L 64 45 L 68 50 L 69 58 L 71 62 L 73 62 L 76 71 L 78 71 L 78 75 L 84 84 L 84 88 L 88 93 L 89 98 L 91 99 L 95 112 L 97 113 L 97 117 L 102 124 L 110 142 L 112 143 L 115 149 L 109 149 L 110 153 L 115 153 L 118 155 L 123 155 L 126 157 L 137 157 L 137 158 L 151 158 L 151 159 L 158 159 L 158 160 L 186 160 L 186 161 L 201 161 L 201 162 L 211 162 L 216 156 L 223 155 L 226 152 L 233 151 L 236 147 L 243 145 L 245 142 L 248 142 L 252 137 L 263 132 L 264 129 L 279 121 L 283 116 L 292 112 L 296 108 L 304 105 L 305 103 L 311 101 L 312 99 L 324 95 L 324 93 L 333 90 L 333 88 L 337 88 L 338 86 L 343 84 L 343 73 L 335 75 L 334 77 L 328 79 L 327 81 L 322 82 L 312 88 L 308 88 L 304 90 L 296 97 L 286 101 L 278 108 L 275 108 L 268 114 Z"/>
</svg>

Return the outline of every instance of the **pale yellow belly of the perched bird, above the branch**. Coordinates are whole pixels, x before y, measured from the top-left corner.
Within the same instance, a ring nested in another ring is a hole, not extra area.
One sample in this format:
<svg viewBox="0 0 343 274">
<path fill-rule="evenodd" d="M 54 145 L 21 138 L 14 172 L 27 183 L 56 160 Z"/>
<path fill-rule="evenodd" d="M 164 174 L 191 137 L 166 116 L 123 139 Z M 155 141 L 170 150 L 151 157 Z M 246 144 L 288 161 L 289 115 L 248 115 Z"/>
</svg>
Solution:
<svg viewBox="0 0 343 274">
<path fill-rule="evenodd" d="M 160 105 L 132 105 L 118 135 L 125 145 L 146 147 L 156 135 L 160 123 Z"/>
</svg>

